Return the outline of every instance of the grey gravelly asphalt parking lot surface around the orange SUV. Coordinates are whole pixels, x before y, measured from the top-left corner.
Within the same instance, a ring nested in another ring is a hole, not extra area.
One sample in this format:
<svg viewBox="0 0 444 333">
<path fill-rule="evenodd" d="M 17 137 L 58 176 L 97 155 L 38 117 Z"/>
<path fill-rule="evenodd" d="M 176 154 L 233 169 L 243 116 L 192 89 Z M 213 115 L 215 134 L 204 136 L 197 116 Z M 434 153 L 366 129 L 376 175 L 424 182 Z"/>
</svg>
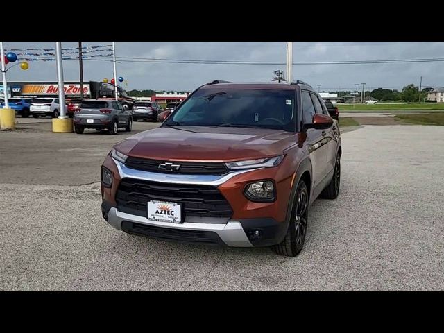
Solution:
<svg viewBox="0 0 444 333">
<path fill-rule="evenodd" d="M 119 232 L 99 168 L 128 133 L 17 127 L 0 132 L 0 290 L 444 290 L 444 126 L 343 133 L 341 193 L 316 200 L 294 258 Z"/>
</svg>

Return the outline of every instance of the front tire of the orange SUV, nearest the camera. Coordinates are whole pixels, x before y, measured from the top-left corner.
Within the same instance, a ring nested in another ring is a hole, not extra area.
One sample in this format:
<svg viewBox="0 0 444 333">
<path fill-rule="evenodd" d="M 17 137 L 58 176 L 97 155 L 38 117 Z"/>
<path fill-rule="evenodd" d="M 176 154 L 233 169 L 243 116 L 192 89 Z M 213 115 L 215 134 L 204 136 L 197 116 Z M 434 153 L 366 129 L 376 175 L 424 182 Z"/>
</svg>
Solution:
<svg viewBox="0 0 444 333">
<path fill-rule="evenodd" d="M 289 229 L 284 240 L 272 247 L 278 255 L 287 257 L 296 257 L 304 247 L 305 237 L 307 235 L 309 196 L 307 185 L 300 180 L 296 196 L 291 210 L 291 220 Z"/>
</svg>

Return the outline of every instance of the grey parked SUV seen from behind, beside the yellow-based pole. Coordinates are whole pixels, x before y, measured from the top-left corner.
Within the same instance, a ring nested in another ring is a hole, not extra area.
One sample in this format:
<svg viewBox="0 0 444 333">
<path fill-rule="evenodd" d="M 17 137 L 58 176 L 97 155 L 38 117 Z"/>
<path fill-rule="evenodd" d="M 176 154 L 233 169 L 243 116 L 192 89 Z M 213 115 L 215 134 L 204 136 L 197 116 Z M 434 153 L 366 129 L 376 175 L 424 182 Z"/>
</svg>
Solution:
<svg viewBox="0 0 444 333">
<path fill-rule="evenodd" d="M 82 134 L 85 128 L 108 130 L 112 135 L 117 134 L 119 128 L 130 132 L 133 117 L 130 112 L 123 110 L 119 101 L 85 99 L 74 111 L 74 130 L 77 134 Z"/>
</svg>

